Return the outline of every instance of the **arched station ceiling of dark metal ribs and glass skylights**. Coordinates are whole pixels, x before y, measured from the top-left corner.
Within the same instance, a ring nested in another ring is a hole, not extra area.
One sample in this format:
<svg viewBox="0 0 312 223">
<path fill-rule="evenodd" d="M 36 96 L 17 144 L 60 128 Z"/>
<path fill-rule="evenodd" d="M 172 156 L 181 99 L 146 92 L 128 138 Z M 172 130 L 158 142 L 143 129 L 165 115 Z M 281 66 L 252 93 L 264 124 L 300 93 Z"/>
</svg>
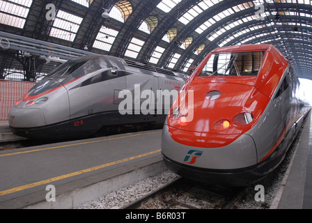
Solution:
<svg viewBox="0 0 312 223">
<path fill-rule="evenodd" d="M 310 0 L 0 0 L 0 31 L 187 74 L 214 48 L 265 43 L 312 79 L 311 25 Z M 0 68 L 18 69 L 8 54 Z"/>
</svg>

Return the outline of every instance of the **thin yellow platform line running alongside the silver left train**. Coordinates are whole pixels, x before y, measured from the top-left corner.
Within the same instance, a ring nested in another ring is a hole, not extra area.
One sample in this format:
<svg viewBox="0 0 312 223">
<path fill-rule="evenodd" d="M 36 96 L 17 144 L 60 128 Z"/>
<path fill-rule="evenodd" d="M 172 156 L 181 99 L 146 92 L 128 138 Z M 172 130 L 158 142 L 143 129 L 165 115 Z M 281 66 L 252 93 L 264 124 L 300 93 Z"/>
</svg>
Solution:
<svg viewBox="0 0 312 223">
<path fill-rule="evenodd" d="M 101 139 L 101 140 L 95 140 L 95 141 L 85 141 L 85 142 L 81 142 L 81 143 L 77 143 L 77 144 L 69 144 L 69 145 L 63 145 L 63 146 L 54 146 L 54 147 L 49 147 L 49 148 L 38 148 L 38 149 L 31 150 L 31 151 L 22 151 L 22 152 L 17 152 L 17 153 L 1 154 L 0 157 L 8 156 L 8 155 L 19 155 L 19 154 L 23 154 L 23 153 L 33 153 L 33 152 L 38 152 L 38 151 L 47 151 L 47 150 L 52 149 L 52 148 L 64 148 L 64 147 L 79 146 L 79 145 L 84 145 L 84 144 L 93 144 L 93 143 L 101 142 L 101 141 L 109 141 L 109 140 L 115 140 L 115 139 L 125 139 L 125 138 L 130 138 L 130 137 L 137 137 L 137 136 L 144 135 L 144 134 L 155 134 L 155 133 L 158 133 L 158 132 L 146 132 L 146 133 L 128 135 L 128 136 L 125 136 L 125 137 L 116 137 L 116 138 L 111 138 L 111 139 Z"/>
</svg>

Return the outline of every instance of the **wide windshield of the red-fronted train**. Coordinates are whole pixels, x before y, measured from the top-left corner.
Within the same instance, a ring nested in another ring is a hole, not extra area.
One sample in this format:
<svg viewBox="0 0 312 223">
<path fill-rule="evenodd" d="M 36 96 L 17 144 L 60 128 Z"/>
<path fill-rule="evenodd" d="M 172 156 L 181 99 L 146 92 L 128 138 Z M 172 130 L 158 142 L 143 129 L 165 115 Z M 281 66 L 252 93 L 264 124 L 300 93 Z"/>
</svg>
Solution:
<svg viewBox="0 0 312 223">
<path fill-rule="evenodd" d="M 198 76 L 257 76 L 264 55 L 264 51 L 212 54 Z"/>
</svg>

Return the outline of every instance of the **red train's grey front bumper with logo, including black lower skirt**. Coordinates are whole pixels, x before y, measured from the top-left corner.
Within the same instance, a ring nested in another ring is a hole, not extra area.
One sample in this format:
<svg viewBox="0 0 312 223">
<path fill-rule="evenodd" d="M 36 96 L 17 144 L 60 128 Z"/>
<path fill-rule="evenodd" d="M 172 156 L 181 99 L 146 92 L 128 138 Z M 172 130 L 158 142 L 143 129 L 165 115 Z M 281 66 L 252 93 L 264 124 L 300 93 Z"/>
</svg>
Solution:
<svg viewBox="0 0 312 223">
<path fill-rule="evenodd" d="M 162 156 L 171 171 L 205 183 L 242 186 L 263 178 L 256 146 L 248 134 L 242 134 L 227 146 L 201 148 L 174 141 L 168 125 L 164 125 Z"/>
</svg>

